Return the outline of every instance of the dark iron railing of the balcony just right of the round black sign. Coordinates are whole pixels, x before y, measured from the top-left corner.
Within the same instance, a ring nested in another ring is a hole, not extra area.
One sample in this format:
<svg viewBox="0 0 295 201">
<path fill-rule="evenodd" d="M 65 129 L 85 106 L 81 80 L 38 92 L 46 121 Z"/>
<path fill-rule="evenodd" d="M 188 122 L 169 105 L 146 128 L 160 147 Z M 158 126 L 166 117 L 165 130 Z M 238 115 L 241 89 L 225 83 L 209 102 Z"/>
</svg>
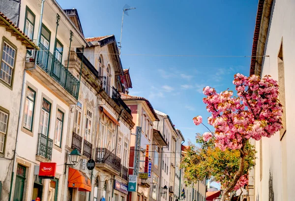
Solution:
<svg viewBox="0 0 295 201">
<path fill-rule="evenodd" d="M 118 172 L 121 171 L 121 159 L 107 148 L 96 148 L 95 162 L 107 164 L 116 169 Z"/>
</svg>

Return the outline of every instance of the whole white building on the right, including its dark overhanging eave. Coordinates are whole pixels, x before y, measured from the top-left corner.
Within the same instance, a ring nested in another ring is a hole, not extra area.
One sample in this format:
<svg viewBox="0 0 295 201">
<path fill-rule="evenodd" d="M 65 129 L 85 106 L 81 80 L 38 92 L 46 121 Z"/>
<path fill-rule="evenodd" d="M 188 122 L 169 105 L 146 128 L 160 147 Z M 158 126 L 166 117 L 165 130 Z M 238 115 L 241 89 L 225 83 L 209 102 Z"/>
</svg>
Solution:
<svg viewBox="0 0 295 201">
<path fill-rule="evenodd" d="M 294 9 L 293 0 L 260 0 L 258 4 L 252 56 L 266 57 L 252 58 L 250 74 L 271 75 L 278 81 L 284 128 L 270 138 L 254 141 L 257 159 L 249 174 L 251 201 L 295 198 Z"/>
</svg>

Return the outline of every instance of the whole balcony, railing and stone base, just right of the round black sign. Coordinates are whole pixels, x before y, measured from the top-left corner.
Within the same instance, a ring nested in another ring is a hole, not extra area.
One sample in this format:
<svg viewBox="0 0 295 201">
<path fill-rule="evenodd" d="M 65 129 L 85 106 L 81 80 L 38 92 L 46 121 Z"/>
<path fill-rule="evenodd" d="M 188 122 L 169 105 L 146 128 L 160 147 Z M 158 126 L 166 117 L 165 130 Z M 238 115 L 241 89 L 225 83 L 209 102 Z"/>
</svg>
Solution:
<svg viewBox="0 0 295 201">
<path fill-rule="evenodd" d="M 107 148 L 96 148 L 95 166 L 112 175 L 120 175 L 121 159 Z"/>
</svg>

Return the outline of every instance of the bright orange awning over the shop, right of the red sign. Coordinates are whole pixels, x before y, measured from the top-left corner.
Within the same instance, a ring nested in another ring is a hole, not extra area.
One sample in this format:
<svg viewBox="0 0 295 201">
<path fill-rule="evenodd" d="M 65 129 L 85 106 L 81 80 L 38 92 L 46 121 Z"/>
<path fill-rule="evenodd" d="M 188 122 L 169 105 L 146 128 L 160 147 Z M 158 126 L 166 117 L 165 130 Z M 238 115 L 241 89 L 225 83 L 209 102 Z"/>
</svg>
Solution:
<svg viewBox="0 0 295 201">
<path fill-rule="evenodd" d="M 87 175 L 78 169 L 69 167 L 68 187 L 78 188 L 79 191 L 91 191 L 91 182 Z"/>
</svg>

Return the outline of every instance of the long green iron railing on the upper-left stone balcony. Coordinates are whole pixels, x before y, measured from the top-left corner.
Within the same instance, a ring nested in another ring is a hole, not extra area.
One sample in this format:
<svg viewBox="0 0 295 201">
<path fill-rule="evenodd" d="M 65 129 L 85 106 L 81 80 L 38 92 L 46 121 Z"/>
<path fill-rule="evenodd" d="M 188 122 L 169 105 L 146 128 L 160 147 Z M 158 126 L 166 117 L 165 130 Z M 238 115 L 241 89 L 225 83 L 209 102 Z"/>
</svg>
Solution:
<svg viewBox="0 0 295 201">
<path fill-rule="evenodd" d="M 47 48 L 39 44 L 37 65 L 54 78 L 75 99 L 79 96 L 79 80 L 64 67 Z"/>
</svg>

